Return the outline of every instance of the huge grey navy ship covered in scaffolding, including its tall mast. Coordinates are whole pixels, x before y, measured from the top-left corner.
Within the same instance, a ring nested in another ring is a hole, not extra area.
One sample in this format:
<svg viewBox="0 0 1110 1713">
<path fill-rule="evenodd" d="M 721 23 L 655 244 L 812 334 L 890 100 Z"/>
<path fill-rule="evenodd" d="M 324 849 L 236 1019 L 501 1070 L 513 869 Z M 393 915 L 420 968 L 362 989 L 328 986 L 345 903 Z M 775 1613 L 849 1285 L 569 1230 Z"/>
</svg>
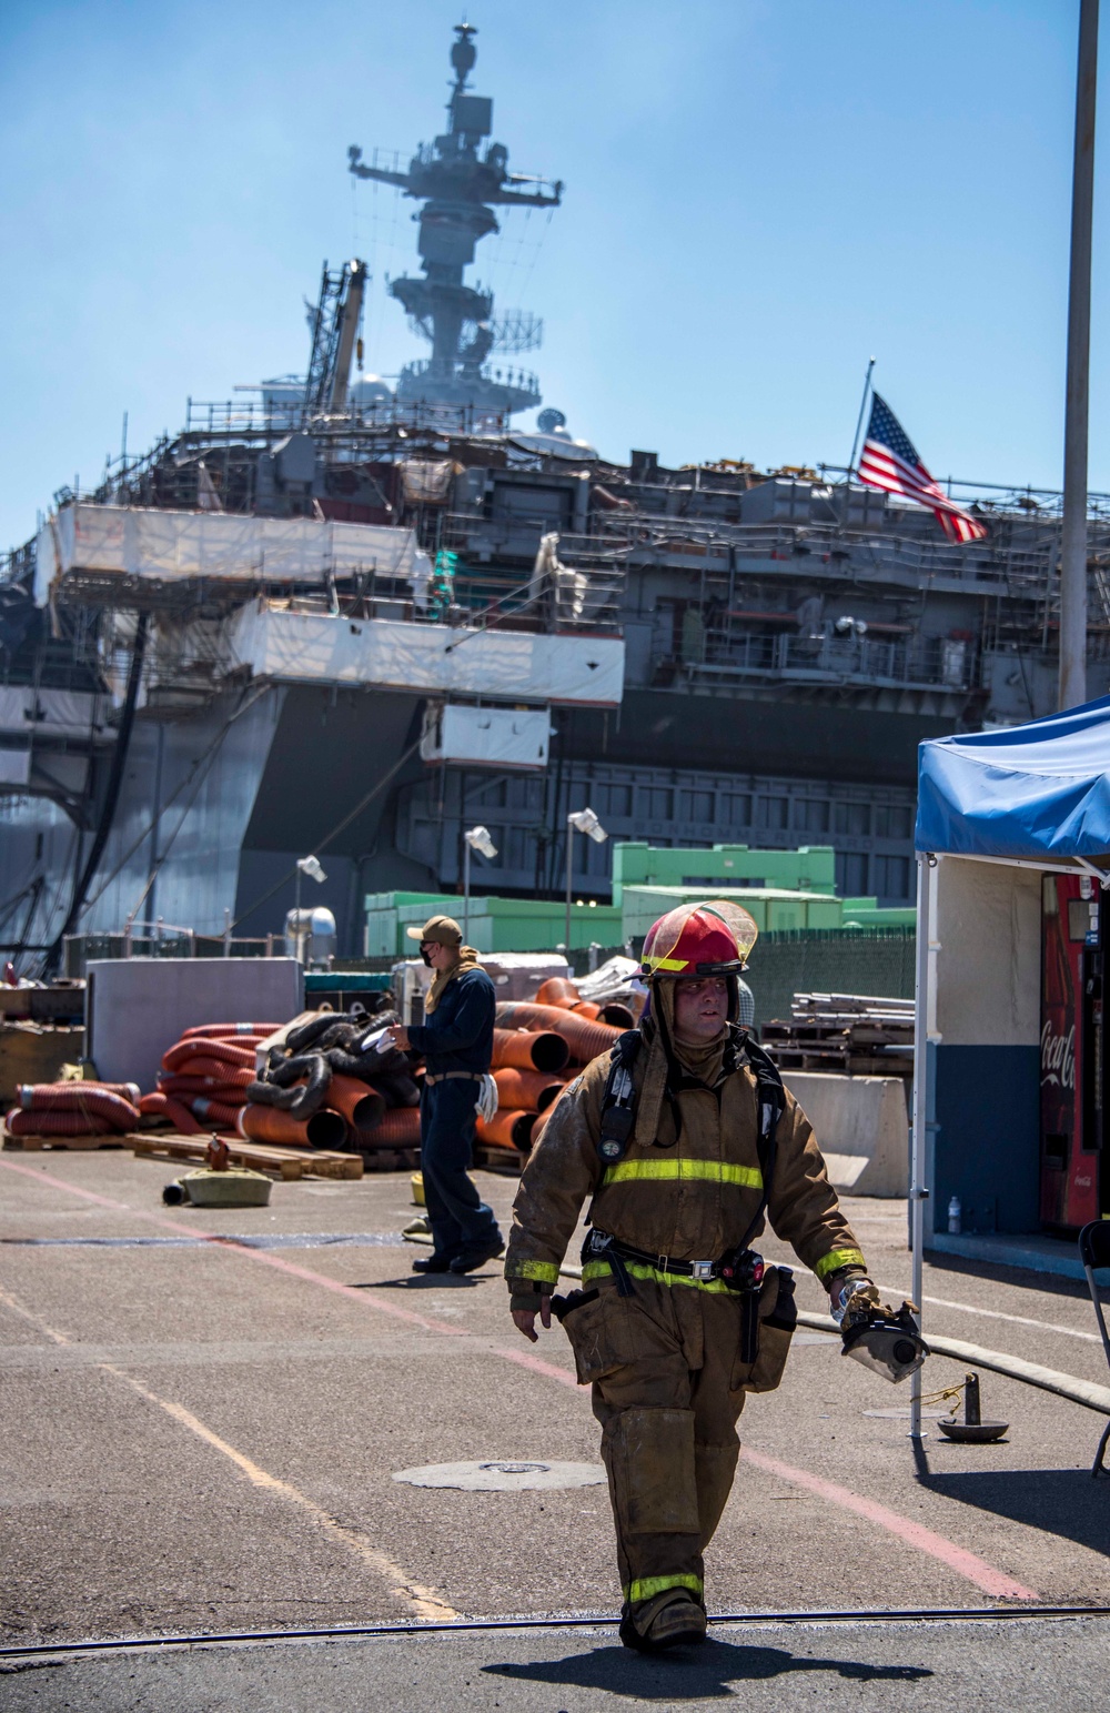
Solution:
<svg viewBox="0 0 1110 1713">
<path fill-rule="evenodd" d="M 916 743 L 1053 706 L 1057 495 L 958 493 L 990 534 L 952 546 L 844 471 L 606 459 L 558 413 L 514 428 L 538 384 L 483 363 L 492 303 L 461 250 L 476 209 L 560 187 L 514 190 L 483 152 L 471 33 L 454 51 L 451 128 L 404 175 L 425 274 L 394 286 L 430 363 L 396 391 L 356 377 L 367 271 L 325 267 L 305 375 L 190 403 L 10 557 L 0 940 L 29 959 L 158 918 L 278 932 L 308 851 L 356 952 L 363 896 L 451 892 L 474 822 L 486 889 L 560 892 L 586 803 L 610 841 L 577 841 L 584 898 L 637 838 L 832 845 L 843 894 L 906 903 Z M 445 260 L 425 224 L 452 163 Z M 1098 498 L 1089 552 L 1096 695 Z"/>
</svg>

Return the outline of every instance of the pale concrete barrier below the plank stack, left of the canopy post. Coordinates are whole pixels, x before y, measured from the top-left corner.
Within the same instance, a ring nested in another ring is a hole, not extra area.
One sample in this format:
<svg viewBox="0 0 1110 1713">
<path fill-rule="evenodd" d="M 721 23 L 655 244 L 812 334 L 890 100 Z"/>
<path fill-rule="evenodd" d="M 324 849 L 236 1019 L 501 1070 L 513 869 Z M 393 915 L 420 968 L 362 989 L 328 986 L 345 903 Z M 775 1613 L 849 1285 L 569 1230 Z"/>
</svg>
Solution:
<svg viewBox="0 0 1110 1713">
<path fill-rule="evenodd" d="M 846 1196 L 904 1196 L 910 1117 L 898 1076 L 785 1071 L 783 1083 L 817 1132 L 829 1179 Z"/>
</svg>

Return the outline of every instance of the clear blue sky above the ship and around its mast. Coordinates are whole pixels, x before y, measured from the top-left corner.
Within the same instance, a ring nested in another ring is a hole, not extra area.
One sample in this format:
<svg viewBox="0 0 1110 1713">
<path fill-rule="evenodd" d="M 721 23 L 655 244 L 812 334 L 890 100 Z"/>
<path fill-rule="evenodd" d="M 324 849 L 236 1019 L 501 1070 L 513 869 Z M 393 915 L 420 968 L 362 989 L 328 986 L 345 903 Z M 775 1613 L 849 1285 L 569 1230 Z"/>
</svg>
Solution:
<svg viewBox="0 0 1110 1713">
<path fill-rule="evenodd" d="M 843 463 L 875 380 L 935 475 L 1059 485 L 1077 0 L 468 0 L 510 166 L 565 182 L 480 248 L 603 454 Z M 7 0 L 0 545 L 185 397 L 303 368 L 324 257 L 367 368 L 421 355 L 411 202 L 348 144 L 442 125 L 461 0 Z M 1101 142 L 1107 142 L 1103 93 Z M 1110 488 L 1107 168 L 1091 486 Z M 531 360 L 529 360 L 531 361 Z"/>
</svg>

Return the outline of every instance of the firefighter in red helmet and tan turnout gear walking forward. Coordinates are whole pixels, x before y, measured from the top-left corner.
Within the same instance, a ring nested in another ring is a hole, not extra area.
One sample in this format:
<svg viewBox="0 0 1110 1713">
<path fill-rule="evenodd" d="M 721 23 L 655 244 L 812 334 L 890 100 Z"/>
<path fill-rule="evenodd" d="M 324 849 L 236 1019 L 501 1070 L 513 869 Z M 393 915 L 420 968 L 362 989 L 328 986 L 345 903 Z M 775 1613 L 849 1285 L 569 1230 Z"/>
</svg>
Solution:
<svg viewBox="0 0 1110 1713">
<path fill-rule="evenodd" d="M 870 1288 L 805 1113 L 735 1024 L 755 940 L 737 904 L 670 911 L 644 940 L 649 1007 L 560 1096 L 521 1179 L 505 1259 L 512 1319 L 552 1307 L 601 1424 L 625 1646 L 706 1634 L 702 1554 L 728 1499 L 750 1391 L 778 1386 L 793 1274 L 754 1244 L 769 1218 L 834 1302 Z M 589 1201 L 582 1288 L 553 1295 Z"/>
</svg>

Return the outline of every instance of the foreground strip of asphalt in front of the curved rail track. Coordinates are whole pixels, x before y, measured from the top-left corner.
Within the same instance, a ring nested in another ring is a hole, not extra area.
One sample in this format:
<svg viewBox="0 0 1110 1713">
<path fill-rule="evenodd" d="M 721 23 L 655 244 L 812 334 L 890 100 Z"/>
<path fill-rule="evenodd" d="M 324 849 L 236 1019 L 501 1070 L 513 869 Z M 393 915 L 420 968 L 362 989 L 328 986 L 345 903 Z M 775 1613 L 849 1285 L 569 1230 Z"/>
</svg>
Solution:
<svg viewBox="0 0 1110 1713">
<path fill-rule="evenodd" d="M 7 1713 L 1101 1713 L 1105 1619 L 721 1624 L 701 1648 L 630 1655 L 606 1629 L 192 1648 L 36 1662 L 0 1675 Z M 2 1670 L 2 1667 L 0 1667 Z"/>
</svg>

